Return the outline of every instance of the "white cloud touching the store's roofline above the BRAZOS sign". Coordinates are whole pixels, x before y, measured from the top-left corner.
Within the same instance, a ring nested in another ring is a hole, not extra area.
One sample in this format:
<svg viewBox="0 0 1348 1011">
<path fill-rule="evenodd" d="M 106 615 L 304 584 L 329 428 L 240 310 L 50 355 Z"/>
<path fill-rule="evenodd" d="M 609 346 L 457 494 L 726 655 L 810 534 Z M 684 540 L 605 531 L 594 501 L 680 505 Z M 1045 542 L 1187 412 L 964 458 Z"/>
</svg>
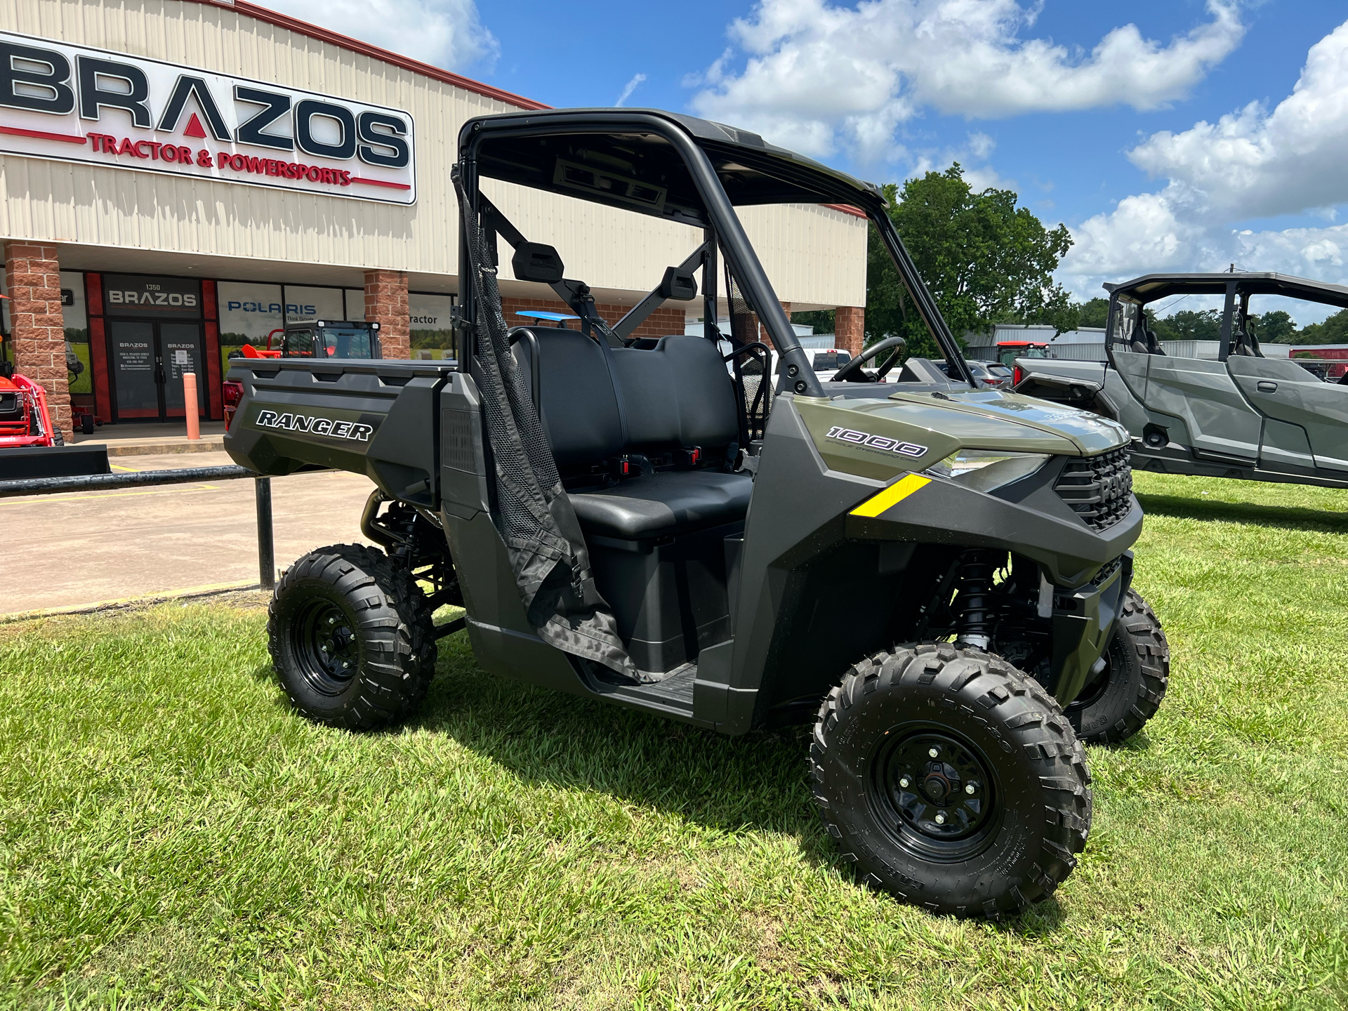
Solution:
<svg viewBox="0 0 1348 1011">
<path fill-rule="evenodd" d="M 473 0 L 266 0 L 266 5 L 446 70 L 489 69 L 500 54 Z"/>
</svg>

